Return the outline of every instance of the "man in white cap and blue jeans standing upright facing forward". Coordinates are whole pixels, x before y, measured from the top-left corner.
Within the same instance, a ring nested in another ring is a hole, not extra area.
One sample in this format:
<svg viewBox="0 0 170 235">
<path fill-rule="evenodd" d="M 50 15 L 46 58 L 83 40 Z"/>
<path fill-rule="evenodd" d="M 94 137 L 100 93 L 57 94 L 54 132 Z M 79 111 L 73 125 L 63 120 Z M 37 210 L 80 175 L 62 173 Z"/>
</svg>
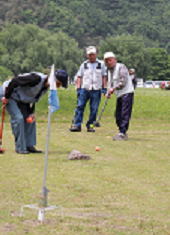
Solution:
<svg viewBox="0 0 170 235">
<path fill-rule="evenodd" d="M 84 109 L 90 102 L 90 114 L 86 123 L 88 132 L 95 132 L 93 123 L 96 121 L 101 93 L 106 92 L 106 69 L 103 61 L 97 59 L 94 46 L 86 48 L 87 60 L 84 61 L 76 74 L 77 107 L 71 132 L 80 132 Z M 103 89 L 102 89 L 103 88 Z"/>
</svg>

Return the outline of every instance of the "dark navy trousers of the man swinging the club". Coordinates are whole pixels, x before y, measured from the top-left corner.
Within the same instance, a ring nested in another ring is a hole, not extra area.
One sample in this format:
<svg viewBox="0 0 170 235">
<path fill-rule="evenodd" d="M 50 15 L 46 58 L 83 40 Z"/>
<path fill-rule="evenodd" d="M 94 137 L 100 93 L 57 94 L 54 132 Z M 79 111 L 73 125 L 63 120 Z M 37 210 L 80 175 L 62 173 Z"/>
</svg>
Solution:
<svg viewBox="0 0 170 235">
<path fill-rule="evenodd" d="M 119 128 L 119 131 L 123 134 L 126 134 L 129 121 L 132 114 L 134 93 L 125 94 L 117 99 L 116 103 L 116 124 Z"/>
</svg>

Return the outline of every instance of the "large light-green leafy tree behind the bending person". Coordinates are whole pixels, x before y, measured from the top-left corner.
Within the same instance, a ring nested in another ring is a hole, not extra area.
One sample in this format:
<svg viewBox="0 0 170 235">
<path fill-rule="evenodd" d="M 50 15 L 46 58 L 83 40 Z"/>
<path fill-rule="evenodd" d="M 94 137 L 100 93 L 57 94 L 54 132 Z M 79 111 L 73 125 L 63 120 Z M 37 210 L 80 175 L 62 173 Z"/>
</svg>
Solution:
<svg viewBox="0 0 170 235">
<path fill-rule="evenodd" d="M 55 63 L 57 68 L 66 69 L 73 76 L 82 51 L 65 33 L 50 33 L 29 24 L 8 24 L 0 33 L 0 54 L 0 64 L 15 75 L 42 71 Z"/>
</svg>

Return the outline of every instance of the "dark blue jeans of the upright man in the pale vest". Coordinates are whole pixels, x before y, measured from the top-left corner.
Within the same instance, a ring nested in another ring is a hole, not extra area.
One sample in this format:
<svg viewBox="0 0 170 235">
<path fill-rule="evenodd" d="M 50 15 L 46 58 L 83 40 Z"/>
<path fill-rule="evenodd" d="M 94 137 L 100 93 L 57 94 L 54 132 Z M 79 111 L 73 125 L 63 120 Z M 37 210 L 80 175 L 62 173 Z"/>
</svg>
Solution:
<svg viewBox="0 0 170 235">
<path fill-rule="evenodd" d="M 78 94 L 78 104 L 75 112 L 75 126 L 81 127 L 83 121 L 84 109 L 87 102 L 90 102 L 89 120 L 86 123 L 87 128 L 96 121 L 97 111 L 101 100 L 101 90 L 80 89 Z"/>
</svg>

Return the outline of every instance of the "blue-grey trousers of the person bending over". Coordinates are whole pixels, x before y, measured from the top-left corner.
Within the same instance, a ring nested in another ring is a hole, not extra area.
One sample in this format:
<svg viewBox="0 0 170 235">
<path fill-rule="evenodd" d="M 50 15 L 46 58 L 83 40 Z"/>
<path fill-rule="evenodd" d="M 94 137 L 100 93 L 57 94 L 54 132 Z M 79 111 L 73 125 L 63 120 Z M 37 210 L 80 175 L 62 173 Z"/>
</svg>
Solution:
<svg viewBox="0 0 170 235">
<path fill-rule="evenodd" d="M 26 151 L 27 147 L 36 145 L 35 122 L 27 123 L 25 121 L 24 114 L 15 100 L 9 99 L 6 108 L 11 118 L 12 132 L 15 137 L 15 150 Z"/>
</svg>

